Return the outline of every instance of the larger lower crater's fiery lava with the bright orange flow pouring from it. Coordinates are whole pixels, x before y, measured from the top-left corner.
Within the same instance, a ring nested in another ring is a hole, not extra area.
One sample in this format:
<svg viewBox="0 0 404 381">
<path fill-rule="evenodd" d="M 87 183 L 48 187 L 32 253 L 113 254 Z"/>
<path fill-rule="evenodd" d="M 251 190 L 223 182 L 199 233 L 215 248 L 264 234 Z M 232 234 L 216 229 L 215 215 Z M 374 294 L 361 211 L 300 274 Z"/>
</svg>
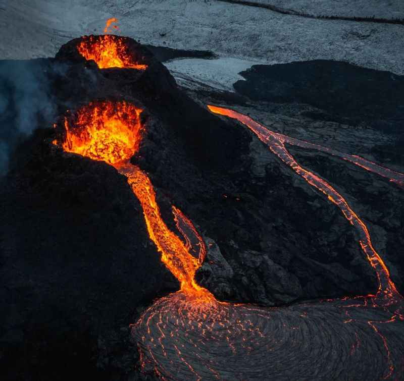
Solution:
<svg viewBox="0 0 404 381">
<path fill-rule="evenodd" d="M 181 291 L 198 302 L 213 301 L 213 295 L 194 281 L 195 271 L 205 256 L 203 240 L 191 222 L 174 206 L 174 218 L 186 243 L 168 229 L 160 214 L 150 179 L 129 162 L 139 148 L 141 112 L 140 108 L 124 101 L 91 102 L 78 110 L 74 123 L 65 118 L 62 147 L 67 152 L 105 161 L 127 177 L 143 208 L 150 239 L 162 253 L 162 261 L 180 282 Z M 192 235 L 200 247 L 197 257 L 190 253 L 192 245 L 188 237 Z"/>
</svg>

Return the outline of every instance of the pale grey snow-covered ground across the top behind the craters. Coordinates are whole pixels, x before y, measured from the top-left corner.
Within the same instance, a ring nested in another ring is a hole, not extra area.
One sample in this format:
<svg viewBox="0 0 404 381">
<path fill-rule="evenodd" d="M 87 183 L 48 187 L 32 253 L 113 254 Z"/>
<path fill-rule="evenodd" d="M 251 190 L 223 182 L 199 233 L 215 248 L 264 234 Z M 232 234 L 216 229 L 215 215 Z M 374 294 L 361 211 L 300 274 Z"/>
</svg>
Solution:
<svg viewBox="0 0 404 381">
<path fill-rule="evenodd" d="M 315 14 L 404 17 L 401 0 L 272 4 Z M 73 37 L 102 33 L 110 17 L 119 19 L 119 33 L 140 42 L 214 51 L 220 60 L 167 66 L 177 78 L 223 89 L 255 63 L 331 59 L 404 74 L 402 25 L 313 20 L 216 0 L 0 0 L 0 59 L 54 56 Z"/>
</svg>

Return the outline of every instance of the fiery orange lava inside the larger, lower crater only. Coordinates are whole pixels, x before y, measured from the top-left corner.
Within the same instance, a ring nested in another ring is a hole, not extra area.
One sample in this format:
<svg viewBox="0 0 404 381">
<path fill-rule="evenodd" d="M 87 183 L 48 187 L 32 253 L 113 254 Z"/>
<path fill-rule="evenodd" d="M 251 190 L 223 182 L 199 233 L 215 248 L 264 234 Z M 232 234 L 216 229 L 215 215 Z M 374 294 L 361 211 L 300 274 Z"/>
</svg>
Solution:
<svg viewBox="0 0 404 381">
<path fill-rule="evenodd" d="M 77 112 L 74 126 L 65 119 L 63 149 L 111 165 L 129 160 L 139 146 L 141 112 L 124 101 L 91 102 Z"/>
</svg>

